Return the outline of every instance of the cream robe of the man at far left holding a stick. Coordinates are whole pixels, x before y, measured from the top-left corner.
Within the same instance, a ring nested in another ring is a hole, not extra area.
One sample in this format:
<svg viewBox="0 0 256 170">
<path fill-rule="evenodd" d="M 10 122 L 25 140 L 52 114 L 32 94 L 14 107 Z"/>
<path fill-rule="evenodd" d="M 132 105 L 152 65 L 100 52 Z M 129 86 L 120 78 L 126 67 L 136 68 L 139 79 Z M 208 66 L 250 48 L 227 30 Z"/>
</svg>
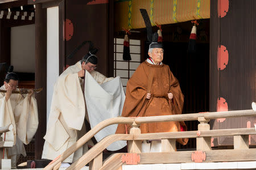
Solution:
<svg viewBox="0 0 256 170">
<path fill-rule="evenodd" d="M 1 90 L 6 90 L 3 85 Z M 13 131 L 6 133 L 6 141 L 14 141 L 8 148 L 8 156 L 22 154 L 26 156 L 24 144 L 30 143 L 38 129 L 38 107 L 35 97 L 28 101 L 28 95 L 11 94 L 6 101 L 5 93 L 0 93 L 0 127 L 14 125 Z M 16 137 L 18 136 L 18 138 Z M 4 139 L 4 136 L 2 135 Z"/>
</svg>

